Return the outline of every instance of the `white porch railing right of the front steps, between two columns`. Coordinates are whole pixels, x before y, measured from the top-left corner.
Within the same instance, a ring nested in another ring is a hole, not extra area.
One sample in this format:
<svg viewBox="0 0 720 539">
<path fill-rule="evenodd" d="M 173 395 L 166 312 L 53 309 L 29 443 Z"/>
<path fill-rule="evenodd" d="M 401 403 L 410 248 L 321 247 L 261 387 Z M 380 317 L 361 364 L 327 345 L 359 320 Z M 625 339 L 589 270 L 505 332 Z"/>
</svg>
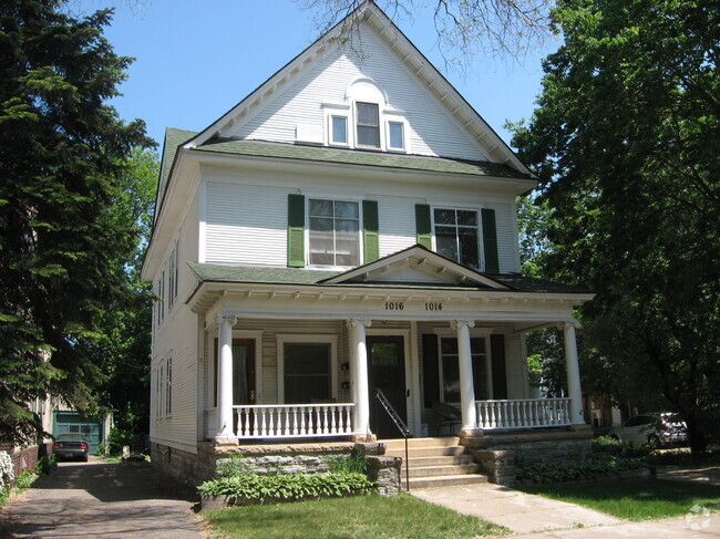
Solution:
<svg viewBox="0 0 720 539">
<path fill-rule="evenodd" d="M 475 401 L 477 427 L 538 428 L 570 425 L 570 400 Z"/>
</svg>

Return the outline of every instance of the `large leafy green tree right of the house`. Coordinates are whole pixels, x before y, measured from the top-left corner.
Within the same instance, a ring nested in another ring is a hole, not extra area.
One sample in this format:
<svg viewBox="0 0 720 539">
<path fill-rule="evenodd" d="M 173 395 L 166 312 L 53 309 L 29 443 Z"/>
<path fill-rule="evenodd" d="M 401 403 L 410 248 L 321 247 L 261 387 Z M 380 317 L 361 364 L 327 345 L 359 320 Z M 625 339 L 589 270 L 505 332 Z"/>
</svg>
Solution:
<svg viewBox="0 0 720 539">
<path fill-rule="evenodd" d="M 614 390 L 661 397 L 703 449 L 720 395 L 720 4 L 567 0 L 553 18 L 565 43 L 513 141 L 552 210 L 548 277 L 597 292 L 585 338 Z"/>
</svg>

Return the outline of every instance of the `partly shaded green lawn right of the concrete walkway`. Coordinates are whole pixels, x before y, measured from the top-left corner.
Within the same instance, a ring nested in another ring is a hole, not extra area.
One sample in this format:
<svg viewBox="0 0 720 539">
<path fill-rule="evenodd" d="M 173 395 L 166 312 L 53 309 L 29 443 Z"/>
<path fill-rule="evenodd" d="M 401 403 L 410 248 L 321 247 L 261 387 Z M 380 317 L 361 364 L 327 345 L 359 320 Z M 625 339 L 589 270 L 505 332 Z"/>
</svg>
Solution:
<svg viewBox="0 0 720 539">
<path fill-rule="evenodd" d="M 628 520 L 681 517 L 693 506 L 711 511 L 720 510 L 720 486 L 703 483 L 638 479 L 517 488 L 524 493 L 569 501 Z"/>
</svg>

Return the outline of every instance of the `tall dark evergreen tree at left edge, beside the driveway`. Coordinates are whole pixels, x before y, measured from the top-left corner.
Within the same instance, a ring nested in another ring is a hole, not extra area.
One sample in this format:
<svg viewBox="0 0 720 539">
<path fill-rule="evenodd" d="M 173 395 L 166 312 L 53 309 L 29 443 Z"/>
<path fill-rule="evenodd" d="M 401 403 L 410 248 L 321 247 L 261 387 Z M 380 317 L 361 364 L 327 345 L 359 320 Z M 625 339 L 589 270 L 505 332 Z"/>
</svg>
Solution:
<svg viewBox="0 0 720 539">
<path fill-rule="evenodd" d="M 100 373 L 79 343 L 126 294 L 140 230 L 114 204 L 130 152 L 150 144 L 105 103 L 131 62 L 102 35 L 111 12 L 62 8 L 0 6 L 0 436 L 14 439 L 38 432 L 34 397 L 92 411 Z"/>
</svg>

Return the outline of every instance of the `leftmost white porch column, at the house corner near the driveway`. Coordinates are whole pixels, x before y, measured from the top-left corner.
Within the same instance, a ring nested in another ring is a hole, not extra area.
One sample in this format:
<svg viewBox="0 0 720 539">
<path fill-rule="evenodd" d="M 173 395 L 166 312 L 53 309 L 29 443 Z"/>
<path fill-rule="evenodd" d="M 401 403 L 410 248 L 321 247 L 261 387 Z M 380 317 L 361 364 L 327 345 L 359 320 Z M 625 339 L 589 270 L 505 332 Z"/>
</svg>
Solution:
<svg viewBox="0 0 720 539">
<path fill-rule="evenodd" d="M 236 440 L 233 432 L 233 326 L 236 317 L 217 315 L 219 365 L 217 373 L 217 435 L 219 442 Z"/>
</svg>

